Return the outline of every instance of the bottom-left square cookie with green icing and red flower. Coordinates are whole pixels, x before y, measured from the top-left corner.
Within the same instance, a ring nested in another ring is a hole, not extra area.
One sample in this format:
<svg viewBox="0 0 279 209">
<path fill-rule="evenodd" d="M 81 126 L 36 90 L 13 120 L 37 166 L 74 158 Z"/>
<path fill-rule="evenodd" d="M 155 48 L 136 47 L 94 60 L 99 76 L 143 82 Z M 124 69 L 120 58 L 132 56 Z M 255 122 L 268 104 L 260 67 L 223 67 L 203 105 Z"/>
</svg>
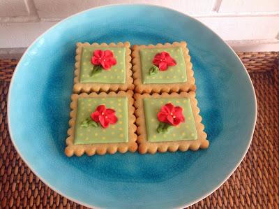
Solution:
<svg viewBox="0 0 279 209">
<path fill-rule="evenodd" d="M 133 101 L 132 91 L 73 94 L 66 155 L 135 152 Z"/>
</svg>

